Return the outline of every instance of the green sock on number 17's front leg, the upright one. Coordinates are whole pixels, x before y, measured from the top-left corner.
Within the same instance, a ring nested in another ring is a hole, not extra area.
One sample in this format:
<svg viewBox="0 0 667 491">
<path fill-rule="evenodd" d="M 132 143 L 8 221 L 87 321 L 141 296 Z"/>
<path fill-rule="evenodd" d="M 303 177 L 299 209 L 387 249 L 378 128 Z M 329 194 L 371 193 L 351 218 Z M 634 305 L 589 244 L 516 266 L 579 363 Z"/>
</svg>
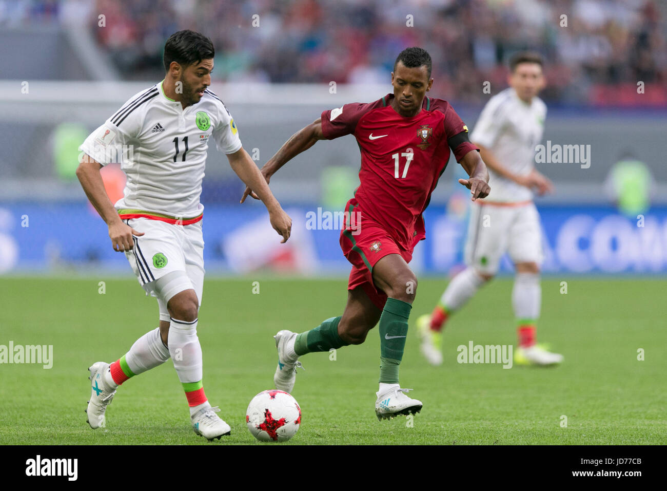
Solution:
<svg viewBox="0 0 667 491">
<path fill-rule="evenodd" d="M 403 359 L 408 336 L 408 317 L 412 305 L 387 299 L 380 316 L 380 382 L 398 383 L 398 367 Z"/>
</svg>

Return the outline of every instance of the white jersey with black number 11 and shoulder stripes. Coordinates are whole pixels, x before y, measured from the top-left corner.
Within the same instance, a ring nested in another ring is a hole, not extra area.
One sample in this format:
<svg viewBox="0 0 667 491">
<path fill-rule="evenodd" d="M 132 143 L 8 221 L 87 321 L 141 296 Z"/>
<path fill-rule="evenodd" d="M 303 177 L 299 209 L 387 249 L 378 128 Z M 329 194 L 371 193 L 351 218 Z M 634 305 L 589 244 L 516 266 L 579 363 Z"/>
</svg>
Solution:
<svg viewBox="0 0 667 491">
<path fill-rule="evenodd" d="M 127 184 L 117 210 L 190 218 L 203 211 L 199 196 L 211 136 L 225 154 L 241 148 L 234 120 L 213 92 L 205 90 L 183 109 L 160 82 L 130 98 L 79 150 L 103 165 L 121 163 Z"/>
</svg>

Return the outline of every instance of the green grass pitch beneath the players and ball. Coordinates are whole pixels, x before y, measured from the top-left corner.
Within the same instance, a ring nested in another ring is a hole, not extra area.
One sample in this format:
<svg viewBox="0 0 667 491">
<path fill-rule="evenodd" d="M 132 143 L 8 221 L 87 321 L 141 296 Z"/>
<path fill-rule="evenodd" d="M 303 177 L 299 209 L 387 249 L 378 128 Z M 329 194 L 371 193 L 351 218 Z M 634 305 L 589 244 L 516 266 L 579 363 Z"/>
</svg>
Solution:
<svg viewBox="0 0 667 491">
<path fill-rule="evenodd" d="M 538 341 L 563 353 L 553 368 L 459 364 L 458 345 L 514 344 L 512 281 L 488 285 L 446 328 L 444 364 L 432 367 L 413 329 L 446 281 L 422 279 L 401 367 L 403 387 L 424 402 L 406 418 L 374 413 L 380 342 L 301 358 L 293 395 L 303 411 L 287 444 L 665 444 L 667 333 L 664 282 L 560 279 L 542 283 Z M 105 281 L 105 293 L 98 282 Z M 253 294 L 259 281 L 259 294 Z M 199 315 L 204 388 L 231 436 L 209 443 L 189 426 L 171 361 L 127 381 L 91 430 L 84 409 L 87 367 L 114 361 L 157 327 L 157 302 L 134 279 L 0 279 L 0 345 L 53 345 L 53 367 L 0 365 L 1 444 L 260 444 L 245 428 L 245 408 L 272 388 L 271 337 L 305 331 L 340 315 L 346 281 L 207 279 Z M 644 361 L 638 349 L 644 349 Z M 561 426 L 567 416 L 567 428 Z"/>
</svg>

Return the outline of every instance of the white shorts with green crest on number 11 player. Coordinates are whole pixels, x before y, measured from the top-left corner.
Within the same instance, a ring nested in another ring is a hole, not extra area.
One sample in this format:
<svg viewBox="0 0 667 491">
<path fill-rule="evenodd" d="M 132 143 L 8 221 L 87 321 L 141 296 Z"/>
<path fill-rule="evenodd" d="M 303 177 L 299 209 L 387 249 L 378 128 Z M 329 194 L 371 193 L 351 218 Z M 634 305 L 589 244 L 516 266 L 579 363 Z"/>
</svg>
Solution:
<svg viewBox="0 0 667 491">
<path fill-rule="evenodd" d="M 157 297 L 160 320 L 169 321 L 169 311 L 155 293 L 155 280 L 172 271 L 183 271 L 187 275 L 201 305 L 204 281 L 201 220 L 189 225 L 172 225 L 149 218 L 129 218 L 123 222 L 143 232 L 141 236 L 132 236 L 134 248 L 125 251 L 125 257 L 146 295 Z"/>
</svg>

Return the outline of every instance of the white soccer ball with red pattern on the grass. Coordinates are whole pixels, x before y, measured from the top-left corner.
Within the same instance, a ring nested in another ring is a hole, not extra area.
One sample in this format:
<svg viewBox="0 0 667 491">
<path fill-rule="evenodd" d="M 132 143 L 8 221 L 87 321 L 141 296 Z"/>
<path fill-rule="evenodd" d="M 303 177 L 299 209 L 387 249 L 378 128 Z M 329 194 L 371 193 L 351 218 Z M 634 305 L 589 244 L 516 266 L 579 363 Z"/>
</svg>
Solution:
<svg viewBox="0 0 667 491">
<path fill-rule="evenodd" d="M 258 393 L 245 412 L 248 430 L 260 442 L 287 442 L 301 426 L 301 407 L 285 391 Z"/>
</svg>

